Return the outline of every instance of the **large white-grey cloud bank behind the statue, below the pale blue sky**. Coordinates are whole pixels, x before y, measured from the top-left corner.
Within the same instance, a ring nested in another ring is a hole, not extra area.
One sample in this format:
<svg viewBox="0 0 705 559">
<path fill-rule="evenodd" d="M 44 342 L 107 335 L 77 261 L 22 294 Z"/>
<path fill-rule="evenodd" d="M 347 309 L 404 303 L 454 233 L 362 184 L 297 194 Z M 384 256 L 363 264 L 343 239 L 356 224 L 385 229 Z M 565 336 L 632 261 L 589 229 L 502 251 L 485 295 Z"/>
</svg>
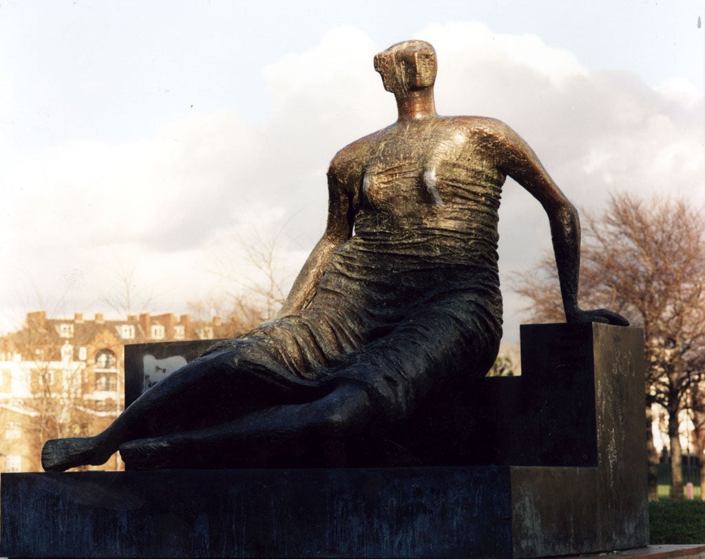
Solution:
<svg viewBox="0 0 705 559">
<path fill-rule="evenodd" d="M 599 208 L 623 189 L 705 201 L 702 99 L 687 82 L 655 91 L 630 73 L 591 73 L 539 37 L 479 23 L 429 25 L 416 37 L 439 53 L 439 111 L 507 122 L 578 205 Z M 106 262 L 129 254 L 160 282 L 162 308 L 182 310 L 218 283 L 204 271 L 208 254 L 233 250 L 233 235 L 257 227 L 283 231 L 287 262 L 300 265 L 323 231 L 331 157 L 396 116 L 372 69 L 387 46 L 340 27 L 266 66 L 274 113 L 262 125 L 246 124 L 247 107 L 233 106 L 193 113 L 132 144 L 15 154 L 0 168 L 0 183 L 11 185 L 0 222 L 6 281 L 30 276 L 49 293 L 80 277 L 71 283 L 77 306 L 66 312 L 90 310 L 81 305 L 100 301 Z M 541 207 L 511 181 L 501 236 L 503 272 L 550 246 Z M 16 306 L 12 297 L 0 295 L 0 306 Z M 506 300 L 515 337 L 520 301 Z"/>
</svg>

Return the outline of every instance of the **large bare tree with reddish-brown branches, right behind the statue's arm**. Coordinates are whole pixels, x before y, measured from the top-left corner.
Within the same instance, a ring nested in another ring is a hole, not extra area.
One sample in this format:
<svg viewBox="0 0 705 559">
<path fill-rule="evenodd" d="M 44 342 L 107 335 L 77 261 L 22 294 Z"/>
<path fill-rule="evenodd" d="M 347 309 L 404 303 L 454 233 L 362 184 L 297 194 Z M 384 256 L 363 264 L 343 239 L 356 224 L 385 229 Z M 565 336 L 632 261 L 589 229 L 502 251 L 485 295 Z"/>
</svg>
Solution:
<svg viewBox="0 0 705 559">
<path fill-rule="evenodd" d="M 651 404 L 658 403 L 668 419 L 670 495 L 682 498 L 678 414 L 705 366 L 705 218 L 683 201 L 619 195 L 586 222 L 580 301 L 644 328 L 649 450 Z M 515 285 L 532 300 L 534 320 L 563 320 L 555 269 L 547 257 Z"/>
</svg>

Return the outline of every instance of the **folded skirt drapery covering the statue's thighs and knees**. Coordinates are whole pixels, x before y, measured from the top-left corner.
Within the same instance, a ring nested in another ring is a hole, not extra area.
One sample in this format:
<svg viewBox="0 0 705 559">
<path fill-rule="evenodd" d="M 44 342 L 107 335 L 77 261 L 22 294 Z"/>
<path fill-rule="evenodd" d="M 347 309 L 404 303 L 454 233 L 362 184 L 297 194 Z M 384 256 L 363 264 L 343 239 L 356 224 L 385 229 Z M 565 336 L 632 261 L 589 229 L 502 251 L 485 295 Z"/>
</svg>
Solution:
<svg viewBox="0 0 705 559">
<path fill-rule="evenodd" d="M 376 324 L 357 336 L 346 326 L 314 307 L 219 343 L 206 359 L 219 360 L 237 377 L 259 379 L 255 384 L 275 400 L 310 401 L 355 383 L 398 422 L 456 373 L 484 376 L 501 338 L 498 320 L 467 300 L 425 305 L 398 324 Z"/>
</svg>

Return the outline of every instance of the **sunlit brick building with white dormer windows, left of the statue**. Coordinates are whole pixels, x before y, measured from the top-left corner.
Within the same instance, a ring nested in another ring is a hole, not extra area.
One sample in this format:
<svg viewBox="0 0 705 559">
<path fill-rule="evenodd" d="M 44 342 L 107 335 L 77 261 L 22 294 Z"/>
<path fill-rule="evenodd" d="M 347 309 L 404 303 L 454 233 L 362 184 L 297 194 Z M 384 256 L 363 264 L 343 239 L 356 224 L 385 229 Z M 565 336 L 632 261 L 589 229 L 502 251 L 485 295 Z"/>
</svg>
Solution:
<svg viewBox="0 0 705 559">
<path fill-rule="evenodd" d="M 106 320 L 27 314 L 23 327 L 0 338 L 0 471 L 39 472 L 47 438 L 97 434 L 123 410 L 123 345 L 226 336 L 215 317 L 133 315 Z M 117 455 L 100 467 L 121 469 Z"/>
</svg>

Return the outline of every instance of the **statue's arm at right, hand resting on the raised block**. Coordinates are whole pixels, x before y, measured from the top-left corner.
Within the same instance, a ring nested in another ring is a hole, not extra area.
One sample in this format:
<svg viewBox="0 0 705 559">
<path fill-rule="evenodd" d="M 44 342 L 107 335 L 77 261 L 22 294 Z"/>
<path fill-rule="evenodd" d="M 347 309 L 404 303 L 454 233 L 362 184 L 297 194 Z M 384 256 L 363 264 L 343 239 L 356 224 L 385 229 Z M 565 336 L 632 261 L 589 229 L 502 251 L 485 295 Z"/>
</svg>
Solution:
<svg viewBox="0 0 705 559">
<path fill-rule="evenodd" d="M 580 274 L 580 219 L 577 210 L 553 182 L 534 151 L 514 130 L 503 123 L 496 123 L 495 137 L 501 146 L 498 149 L 501 154 L 498 166 L 536 198 L 548 214 L 566 321 L 628 326 L 627 319 L 608 309 L 580 309 L 577 302 Z"/>
</svg>

